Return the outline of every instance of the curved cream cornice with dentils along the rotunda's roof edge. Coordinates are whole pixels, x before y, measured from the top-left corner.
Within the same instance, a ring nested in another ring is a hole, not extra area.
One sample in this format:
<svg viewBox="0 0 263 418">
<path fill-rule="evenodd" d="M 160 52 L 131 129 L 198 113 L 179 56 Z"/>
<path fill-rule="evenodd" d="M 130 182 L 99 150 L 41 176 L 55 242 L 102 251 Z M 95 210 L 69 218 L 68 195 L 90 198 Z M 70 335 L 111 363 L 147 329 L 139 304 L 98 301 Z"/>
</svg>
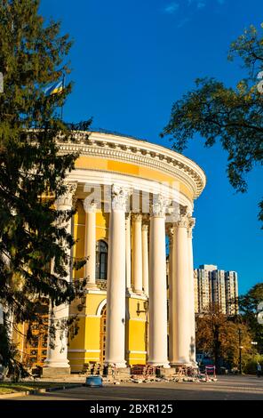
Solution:
<svg viewBox="0 0 263 418">
<path fill-rule="evenodd" d="M 58 140 L 61 154 L 77 153 L 80 156 L 110 158 L 155 168 L 187 183 L 194 198 L 205 186 L 203 170 L 191 159 L 147 141 L 139 141 L 108 133 L 76 132 L 72 140 Z"/>
</svg>

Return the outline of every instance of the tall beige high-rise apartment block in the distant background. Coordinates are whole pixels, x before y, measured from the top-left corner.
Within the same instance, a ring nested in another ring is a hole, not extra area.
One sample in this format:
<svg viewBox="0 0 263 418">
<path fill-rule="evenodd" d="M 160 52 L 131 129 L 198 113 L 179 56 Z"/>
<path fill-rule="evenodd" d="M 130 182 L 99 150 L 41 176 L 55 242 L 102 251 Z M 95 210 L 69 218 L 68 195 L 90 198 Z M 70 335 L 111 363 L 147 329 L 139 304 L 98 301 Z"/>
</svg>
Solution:
<svg viewBox="0 0 263 418">
<path fill-rule="evenodd" d="M 237 297 L 236 271 L 218 269 L 212 264 L 202 264 L 195 269 L 195 313 L 217 306 L 222 313 L 235 315 L 238 313 Z"/>
</svg>

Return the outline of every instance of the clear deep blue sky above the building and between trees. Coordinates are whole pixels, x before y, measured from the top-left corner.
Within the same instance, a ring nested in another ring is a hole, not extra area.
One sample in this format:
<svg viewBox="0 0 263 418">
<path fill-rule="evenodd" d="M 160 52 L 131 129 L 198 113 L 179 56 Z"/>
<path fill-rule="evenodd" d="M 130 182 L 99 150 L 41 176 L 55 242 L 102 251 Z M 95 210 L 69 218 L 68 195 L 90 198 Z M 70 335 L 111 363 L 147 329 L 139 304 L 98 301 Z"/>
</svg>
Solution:
<svg viewBox="0 0 263 418">
<path fill-rule="evenodd" d="M 159 133 L 171 104 L 200 76 L 235 85 L 242 76 L 227 61 L 229 44 L 263 21 L 261 0 L 42 0 L 44 17 L 62 21 L 75 40 L 70 52 L 74 90 L 64 117 L 93 117 L 93 126 L 170 147 Z M 261 16 L 260 16 L 261 12 Z M 239 274 L 240 292 L 262 281 L 262 230 L 257 220 L 262 172 L 236 194 L 219 145 L 196 138 L 185 151 L 207 175 L 195 201 L 195 267 L 217 264 Z"/>
</svg>

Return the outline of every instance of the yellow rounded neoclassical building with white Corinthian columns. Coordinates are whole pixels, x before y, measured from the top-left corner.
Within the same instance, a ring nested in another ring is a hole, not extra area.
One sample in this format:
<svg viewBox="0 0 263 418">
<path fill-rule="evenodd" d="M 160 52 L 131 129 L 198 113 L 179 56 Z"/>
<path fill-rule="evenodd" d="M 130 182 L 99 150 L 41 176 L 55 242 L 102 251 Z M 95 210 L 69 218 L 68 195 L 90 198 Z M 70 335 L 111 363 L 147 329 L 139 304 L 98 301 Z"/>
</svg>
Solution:
<svg viewBox="0 0 263 418">
<path fill-rule="evenodd" d="M 90 363 L 195 365 L 192 213 L 203 170 L 171 149 L 115 133 L 76 132 L 60 152 L 78 153 L 56 205 L 76 207 L 72 255 L 87 263 L 68 280 L 87 277 L 86 293 L 82 303 L 54 310 L 58 323 L 77 317 L 74 338 L 58 331 L 51 348 L 36 329 L 35 345 L 24 343 L 21 355 L 44 365 L 45 375 Z"/>
</svg>

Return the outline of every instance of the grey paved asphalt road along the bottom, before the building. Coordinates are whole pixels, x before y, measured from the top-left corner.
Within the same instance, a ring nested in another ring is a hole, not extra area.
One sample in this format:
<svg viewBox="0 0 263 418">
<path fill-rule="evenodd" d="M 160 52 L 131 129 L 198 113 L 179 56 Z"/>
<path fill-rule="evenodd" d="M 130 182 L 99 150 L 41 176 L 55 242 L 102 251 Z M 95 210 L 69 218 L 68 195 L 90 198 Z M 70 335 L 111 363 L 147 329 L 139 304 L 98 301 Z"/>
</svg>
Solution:
<svg viewBox="0 0 263 418">
<path fill-rule="evenodd" d="M 263 377 L 219 376 L 218 382 L 153 382 L 74 388 L 12 400 L 263 400 Z M 11 400 L 11 399 L 10 399 Z"/>
</svg>

